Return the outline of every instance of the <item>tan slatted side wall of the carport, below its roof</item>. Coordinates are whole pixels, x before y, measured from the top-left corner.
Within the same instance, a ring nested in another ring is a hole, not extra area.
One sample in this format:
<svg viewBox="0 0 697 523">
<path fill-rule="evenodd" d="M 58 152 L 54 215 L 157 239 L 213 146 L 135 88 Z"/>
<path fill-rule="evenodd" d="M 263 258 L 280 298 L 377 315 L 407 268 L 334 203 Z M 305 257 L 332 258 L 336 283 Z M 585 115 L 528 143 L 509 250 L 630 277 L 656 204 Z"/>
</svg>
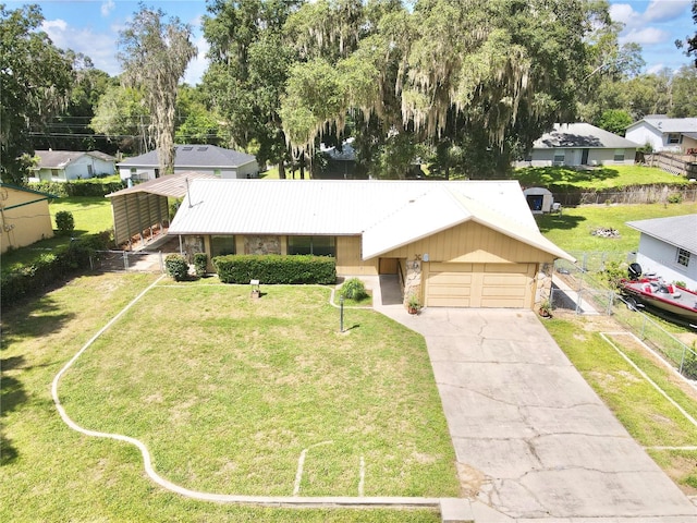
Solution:
<svg viewBox="0 0 697 523">
<path fill-rule="evenodd" d="M 111 212 L 117 245 L 126 243 L 152 226 L 162 224 L 169 218 L 167 197 L 149 193 L 112 197 Z"/>
</svg>

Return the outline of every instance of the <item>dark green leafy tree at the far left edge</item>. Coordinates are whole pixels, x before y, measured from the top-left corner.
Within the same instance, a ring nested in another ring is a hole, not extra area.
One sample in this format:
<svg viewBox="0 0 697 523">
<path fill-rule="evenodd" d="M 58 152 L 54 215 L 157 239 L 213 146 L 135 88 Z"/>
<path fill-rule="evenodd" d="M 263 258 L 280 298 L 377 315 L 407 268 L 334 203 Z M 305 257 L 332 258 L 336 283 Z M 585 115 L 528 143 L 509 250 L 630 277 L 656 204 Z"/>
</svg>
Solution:
<svg viewBox="0 0 697 523">
<path fill-rule="evenodd" d="M 0 178 L 23 183 L 34 149 L 32 125 L 65 105 L 74 80 L 71 59 L 39 31 L 38 5 L 0 4 Z"/>
</svg>

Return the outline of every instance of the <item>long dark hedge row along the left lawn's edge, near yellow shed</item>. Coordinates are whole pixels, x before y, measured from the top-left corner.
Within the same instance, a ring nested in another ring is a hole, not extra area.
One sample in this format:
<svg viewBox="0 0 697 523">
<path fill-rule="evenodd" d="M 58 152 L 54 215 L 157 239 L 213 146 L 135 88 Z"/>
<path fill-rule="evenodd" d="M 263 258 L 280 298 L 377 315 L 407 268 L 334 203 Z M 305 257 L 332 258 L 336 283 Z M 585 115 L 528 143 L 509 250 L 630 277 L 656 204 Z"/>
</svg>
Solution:
<svg viewBox="0 0 697 523">
<path fill-rule="evenodd" d="M 89 256 L 108 247 L 110 232 L 90 234 L 42 254 L 32 265 L 2 275 L 0 303 L 9 307 L 17 301 L 37 294 L 68 276 L 89 267 Z"/>
</svg>

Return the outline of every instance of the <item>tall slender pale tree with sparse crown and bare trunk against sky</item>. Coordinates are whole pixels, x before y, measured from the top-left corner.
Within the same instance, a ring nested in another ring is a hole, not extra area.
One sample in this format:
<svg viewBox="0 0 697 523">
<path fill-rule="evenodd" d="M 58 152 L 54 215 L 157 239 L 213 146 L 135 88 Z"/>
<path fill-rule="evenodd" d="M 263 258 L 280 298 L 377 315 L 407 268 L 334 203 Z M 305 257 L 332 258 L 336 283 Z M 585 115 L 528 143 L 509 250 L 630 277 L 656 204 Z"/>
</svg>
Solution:
<svg viewBox="0 0 697 523">
<path fill-rule="evenodd" d="M 121 32 L 119 60 L 126 86 L 140 87 L 150 111 L 160 172 L 174 172 L 174 115 L 179 82 L 197 49 L 192 28 L 174 16 L 140 4 L 129 27 Z"/>
</svg>

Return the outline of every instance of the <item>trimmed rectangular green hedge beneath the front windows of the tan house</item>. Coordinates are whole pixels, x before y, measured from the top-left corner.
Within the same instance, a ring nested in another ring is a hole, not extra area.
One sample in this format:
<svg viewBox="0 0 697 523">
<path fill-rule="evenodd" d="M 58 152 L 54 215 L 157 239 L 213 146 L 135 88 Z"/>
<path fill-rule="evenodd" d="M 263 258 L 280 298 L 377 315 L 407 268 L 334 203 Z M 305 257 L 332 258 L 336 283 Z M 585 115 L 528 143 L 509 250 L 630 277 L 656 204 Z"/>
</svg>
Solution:
<svg viewBox="0 0 697 523">
<path fill-rule="evenodd" d="M 337 260 L 329 256 L 310 255 L 228 255 L 216 256 L 212 264 L 223 283 L 266 284 L 319 283 L 337 281 Z"/>
</svg>

